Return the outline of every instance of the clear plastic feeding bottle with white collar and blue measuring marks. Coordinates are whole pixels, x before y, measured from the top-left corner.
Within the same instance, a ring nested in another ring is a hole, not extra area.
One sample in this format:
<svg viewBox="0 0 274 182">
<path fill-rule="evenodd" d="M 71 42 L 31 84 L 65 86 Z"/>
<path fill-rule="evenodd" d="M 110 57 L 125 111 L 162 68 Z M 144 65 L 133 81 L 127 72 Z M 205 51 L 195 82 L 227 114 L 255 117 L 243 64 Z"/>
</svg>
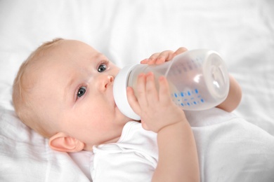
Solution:
<svg viewBox="0 0 274 182">
<path fill-rule="evenodd" d="M 159 76 L 167 78 L 170 97 L 183 110 L 210 109 L 228 96 L 228 71 L 218 53 L 213 50 L 188 50 L 163 64 L 133 64 L 119 71 L 114 81 L 113 95 L 118 109 L 125 116 L 140 120 L 140 116 L 129 106 L 126 87 L 133 87 L 135 92 L 138 75 L 150 71 L 155 75 L 156 85 Z"/>
</svg>

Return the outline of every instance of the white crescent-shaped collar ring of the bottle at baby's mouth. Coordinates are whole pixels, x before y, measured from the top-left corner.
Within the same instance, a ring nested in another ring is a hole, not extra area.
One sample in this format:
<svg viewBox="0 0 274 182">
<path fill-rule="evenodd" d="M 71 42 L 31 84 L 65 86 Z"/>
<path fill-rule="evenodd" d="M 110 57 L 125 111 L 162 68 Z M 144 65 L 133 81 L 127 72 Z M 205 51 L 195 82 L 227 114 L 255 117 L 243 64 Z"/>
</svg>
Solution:
<svg viewBox="0 0 274 182">
<path fill-rule="evenodd" d="M 126 97 L 126 87 L 128 85 L 128 77 L 131 70 L 138 64 L 131 64 L 129 66 L 125 66 L 117 76 L 115 77 L 113 83 L 113 97 L 115 99 L 115 103 L 125 116 L 132 118 L 133 120 L 141 120 L 141 117 L 138 116 L 129 105 L 129 102 Z"/>
</svg>

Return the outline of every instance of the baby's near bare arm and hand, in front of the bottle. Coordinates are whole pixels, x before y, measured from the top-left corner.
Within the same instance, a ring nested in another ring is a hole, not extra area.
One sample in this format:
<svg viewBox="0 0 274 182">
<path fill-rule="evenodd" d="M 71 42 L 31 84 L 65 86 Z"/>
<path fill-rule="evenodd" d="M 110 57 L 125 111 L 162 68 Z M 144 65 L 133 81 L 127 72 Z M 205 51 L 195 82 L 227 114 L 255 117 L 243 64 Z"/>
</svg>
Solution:
<svg viewBox="0 0 274 182">
<path fill-rule="evenodd" d="M 183 110 L 169 97 L 167 79 L 159 78 L 157 91 L 153 73 L 141 74 L 137 95 L 128 87 L 129 104 L 141 116 L 143 128 L 157 132 L 159 160 L 152 181 L 200 181 L 193 132 Z"/>
</svg>

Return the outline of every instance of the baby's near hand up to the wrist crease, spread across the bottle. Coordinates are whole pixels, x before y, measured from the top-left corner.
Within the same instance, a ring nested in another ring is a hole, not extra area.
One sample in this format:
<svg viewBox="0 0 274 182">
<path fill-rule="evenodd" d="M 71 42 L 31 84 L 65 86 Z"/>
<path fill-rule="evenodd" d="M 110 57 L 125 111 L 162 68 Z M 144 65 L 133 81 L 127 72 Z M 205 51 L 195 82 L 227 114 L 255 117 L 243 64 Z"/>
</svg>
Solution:
<svg viewBox="0 0 274 182">
<path fill-rule="evenodd" d="M 159 132 L 169 125 L 187 122 L 183 110 L 172 102 L 169 84 L 164 76 L 159 77 L 159 91 L 157 91 L 152 72 L 141 73 L 137 84 L 137 97 L 132 87 L 127 88 L 127 97 L 133 111 L 141 116 L 141 123 L 145 130 Z"/>
</svg>

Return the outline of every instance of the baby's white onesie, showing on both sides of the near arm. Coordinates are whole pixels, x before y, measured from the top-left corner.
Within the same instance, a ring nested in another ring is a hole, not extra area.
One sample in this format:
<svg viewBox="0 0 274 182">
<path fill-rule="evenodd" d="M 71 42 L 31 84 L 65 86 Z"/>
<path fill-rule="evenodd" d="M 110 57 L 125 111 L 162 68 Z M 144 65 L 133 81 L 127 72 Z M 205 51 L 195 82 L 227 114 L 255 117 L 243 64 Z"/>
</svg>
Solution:
<svg viewBox="0 0 274 182">
<path fill-rule="evenodd" d="M 201 181 L 274 181 L 272 135 L 221 109 L 185 115 L 195 135 Z M 93 147 L 93 153 L 93 182 L 151 181 L 157 134 L 132 121 L 117 143 Z"/>
</svg>

